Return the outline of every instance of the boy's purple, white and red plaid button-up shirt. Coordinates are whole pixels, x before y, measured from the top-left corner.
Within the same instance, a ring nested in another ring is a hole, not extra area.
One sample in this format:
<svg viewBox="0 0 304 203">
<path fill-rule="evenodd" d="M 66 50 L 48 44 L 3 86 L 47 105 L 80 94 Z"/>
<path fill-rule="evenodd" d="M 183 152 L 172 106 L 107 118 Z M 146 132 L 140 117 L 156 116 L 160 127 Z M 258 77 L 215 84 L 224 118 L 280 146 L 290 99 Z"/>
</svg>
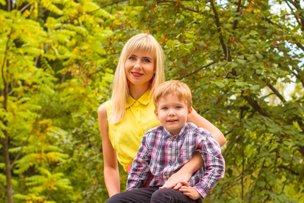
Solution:
<svg viewBox="0 0 304 203">
<path fill-rule="evenodd" d="M 132 163 L 127 190 L 143 187 L 150 173 L 154 176 L 150 186 L 164 185 L 196 151 L 201 153 L 204 166 L 192 175 L 188 183 L 205 198 L 223 178 L 225 160 L 220 145 L 210 132 L 197 128 L 193 123 L 186 123 L 177 135 L 170 134 L 163 126 L 146 131 Z"/>
</svg>

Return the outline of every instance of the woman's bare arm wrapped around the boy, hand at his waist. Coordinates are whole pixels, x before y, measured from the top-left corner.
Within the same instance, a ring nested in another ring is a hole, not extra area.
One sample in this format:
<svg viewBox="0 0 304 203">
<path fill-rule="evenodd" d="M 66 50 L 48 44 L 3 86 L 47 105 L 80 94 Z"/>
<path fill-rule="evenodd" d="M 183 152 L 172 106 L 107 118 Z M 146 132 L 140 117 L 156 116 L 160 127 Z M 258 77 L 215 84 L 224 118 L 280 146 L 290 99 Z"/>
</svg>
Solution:
<svg viewBox="0 0 304 203">
<path fill-rule="evenodd" d="M 216 141 L 222 146 L 226 142 L 226 138 L 224 137 L 223 133 L 215 127 L 212 123 L 210 123 L 207 119 L 203 116 L 198 114 L 194 109 L 192 109 L 191 115 L 188 117 L 187 122 L 194 123 L 199 128 L 207 129 L 211 135 L 214 137 Z M 204 165 L 203 158 L 199 152 L 195 153 L 195 155 L 187 162 L 179 171 L 174 173 L 168 181 L 160 187 L 162 188 L 174 188 L 179 189 L 182 184 L 181 181 L 188 182 L 192 176 L 192 174 L 201 168 Z"/>
</svg>

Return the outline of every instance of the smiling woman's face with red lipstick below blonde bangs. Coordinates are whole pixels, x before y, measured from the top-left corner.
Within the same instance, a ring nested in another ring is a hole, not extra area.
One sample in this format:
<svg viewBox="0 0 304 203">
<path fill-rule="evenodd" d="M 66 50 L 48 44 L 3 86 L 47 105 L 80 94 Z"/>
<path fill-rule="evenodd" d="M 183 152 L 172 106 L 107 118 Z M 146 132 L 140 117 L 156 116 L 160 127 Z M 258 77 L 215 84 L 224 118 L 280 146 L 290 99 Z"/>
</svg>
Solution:
<svg viewBox="0 0 304 203">
<path fill-rule="evenodd" d="M 150 80 L 155 74 L 155 60 L 151 54 L 132 53 L 127 57 L 124 67 L 130 85 L 149 87 Z"/>
</svg>

